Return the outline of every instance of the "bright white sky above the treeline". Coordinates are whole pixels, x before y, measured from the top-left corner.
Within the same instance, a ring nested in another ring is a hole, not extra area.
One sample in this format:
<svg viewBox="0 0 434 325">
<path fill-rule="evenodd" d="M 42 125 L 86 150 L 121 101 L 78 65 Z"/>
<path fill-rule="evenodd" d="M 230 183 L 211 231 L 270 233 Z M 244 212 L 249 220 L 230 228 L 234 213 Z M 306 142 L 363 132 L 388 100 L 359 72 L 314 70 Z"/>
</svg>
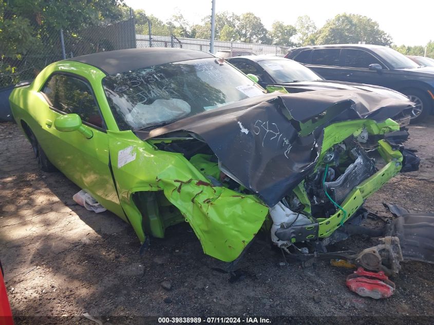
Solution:
<svg viewBox="0 0 434 325">
<path fill-rule="evenodd" d="M 162 21 L 180 12 L 191 23 L 200 23 L 202 17 L 211 14 L 211 0 L 125 0 L 133 9 L 144 9 Z M 298 16 L 309 15 L 320 28 L 339 13 L 361 14 L 379 23 L 380 28 L 392 36 L 397 45 L 426 45 L 434 40 L 432 13 L 433 0 L 419 0 L 417 6 L 411 2 L 391 0 L 328 0 L 328 1 L 255 1 L 216 0 L 216 12 L 229 11 L 236 14 L 253 12 L 261 18 L 267 29 L 275 21 L 294 25 Z"/>
</svg>

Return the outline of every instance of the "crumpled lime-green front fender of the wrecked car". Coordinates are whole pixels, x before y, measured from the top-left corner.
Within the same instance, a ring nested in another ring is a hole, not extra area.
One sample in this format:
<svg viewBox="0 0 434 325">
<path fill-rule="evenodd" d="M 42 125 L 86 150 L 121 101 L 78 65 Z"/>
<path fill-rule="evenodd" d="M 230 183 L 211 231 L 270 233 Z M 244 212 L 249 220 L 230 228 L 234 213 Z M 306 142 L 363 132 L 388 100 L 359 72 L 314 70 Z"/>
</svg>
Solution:
<svg viewBox="0 0 434 325">
<path fill-rule="evenodd" d="M 108 135 L 120 201 L 142 242 L 144 229 L 153 228 L 144 219 L 151 217 L 155 222 L 155 214 L 142 215 L 133 200 L 133 194 L 137 192 L 162 190 L 167 200 L 190 223 L 204 253 L 223 261 L 236 259 L 259 231 L 268 207 L 255 196 L 212 186 L 182 154 L 157 150 L 131 131 L 108 131 Z M 135 159 L 125 165 L 119 164 L 119 151 L 128 147 L 133 147 L 130 152 Z M 217 176 L 215 166 L 210 168 L 205 156 L 199 155 L 193 161 L 199 168 L 210 170 L 210 175 Z M 160 226 L 160 231 L 152 232 L 153 236 L 162 237 L 162 225 L 162 222 L 157 223 L 155 227 Z"/>
</svg>

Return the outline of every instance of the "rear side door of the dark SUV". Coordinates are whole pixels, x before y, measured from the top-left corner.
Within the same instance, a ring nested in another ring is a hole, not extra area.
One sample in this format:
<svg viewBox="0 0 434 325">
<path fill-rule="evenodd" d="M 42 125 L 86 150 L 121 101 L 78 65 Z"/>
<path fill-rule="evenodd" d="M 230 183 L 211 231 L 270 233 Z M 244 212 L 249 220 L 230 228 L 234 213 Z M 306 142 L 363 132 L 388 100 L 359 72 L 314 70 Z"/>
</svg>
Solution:
<svg viewBox="0 0 434 325">
<path fill-rule="evenodd" d="M 297 58 L 298 56 L 296 60 Z M 343 71 L 339 68 L 342 65 L 341 60 L 341 49 L 314 49 L 311 53 L 310 63 L 306 64 L 306 66 L 321 75 L 324 79 L 342 80 L 344 75 Z"/>
</svg>

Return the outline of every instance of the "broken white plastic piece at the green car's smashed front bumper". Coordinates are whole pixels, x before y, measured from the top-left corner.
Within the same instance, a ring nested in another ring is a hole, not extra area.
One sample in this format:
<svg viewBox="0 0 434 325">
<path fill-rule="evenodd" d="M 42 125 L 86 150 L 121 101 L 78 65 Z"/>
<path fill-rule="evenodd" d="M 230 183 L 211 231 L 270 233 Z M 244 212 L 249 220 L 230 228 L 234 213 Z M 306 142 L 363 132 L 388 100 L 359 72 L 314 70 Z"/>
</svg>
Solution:
<svg viewBox="0 0 434 325">
<path fill-rule="evenodd" d="M 298 218 L 297 218 L 298 215 Z M 288 225 L 300 225 L 309 224 L 312 221 L 308 217 L 293 212 L 291 209 L 287 208 L 283 203 L 279 202 L 275 206 L 270 208 L 270 216 L 273 220 L 273 225 L 271 226 L 271 240 L 277 244 L 277 246 L 288 246 L 290 243 L 288 241 L 282 241 L 275 235 L 276 230 L 280 228 L 282 223 Z"/>
</svg>

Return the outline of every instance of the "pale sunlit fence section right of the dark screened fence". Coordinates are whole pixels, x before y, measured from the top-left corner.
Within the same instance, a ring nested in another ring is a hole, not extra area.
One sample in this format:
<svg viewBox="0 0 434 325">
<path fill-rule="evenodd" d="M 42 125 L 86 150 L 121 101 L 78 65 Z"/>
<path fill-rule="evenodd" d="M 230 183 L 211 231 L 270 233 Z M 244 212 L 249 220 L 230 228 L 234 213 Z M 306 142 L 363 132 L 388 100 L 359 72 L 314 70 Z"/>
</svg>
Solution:
<svg viewBox="0 0 434 325">
<path fill-rule="evenodd" d="M 210 51 L 210 40 L 202 39 L 188 39 L 183 37 L 172 36 L 158 36 L 158 35 L 136 35 L 136 46 L 143 47 L 180 47 L 183 49 Z M 222 55 L 225 59 L 231 56 L 238 55 L 259 55 L 270 54 L 276 56 L 285 56 L 288 54 L 289 47 L 252 44 L 252 43 L 239 43 L 239 42 L 223 42 L 214 41 L 214 54 Z"/>
</svg>

